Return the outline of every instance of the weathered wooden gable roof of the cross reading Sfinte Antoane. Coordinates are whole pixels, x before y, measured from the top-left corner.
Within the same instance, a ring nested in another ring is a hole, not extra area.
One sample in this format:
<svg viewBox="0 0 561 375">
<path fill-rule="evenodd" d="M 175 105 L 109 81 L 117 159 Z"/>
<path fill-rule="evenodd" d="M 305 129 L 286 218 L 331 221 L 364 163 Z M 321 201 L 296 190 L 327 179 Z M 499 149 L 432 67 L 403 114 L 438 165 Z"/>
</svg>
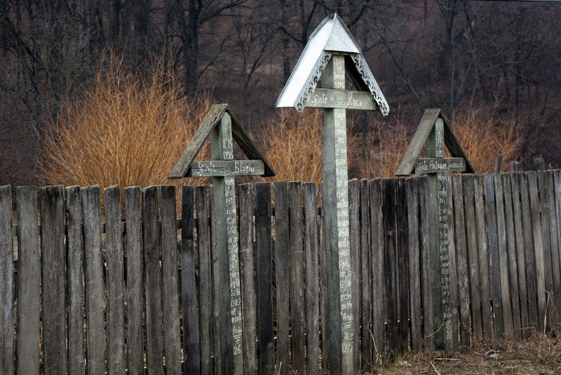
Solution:
<svg viewBox="0 0 561 375">
<path fill-rule="evenodd" d="M 428 135 L 431 134 L 436 119 L 441 118 L 442 122 L 444 122 L 444 144 L 448 151 L 450 151 L 450 155 L 452 157 L 462 157 L 466 161 L 466 171 L 464 173 L 473 173 L 473 167 L 462 150 L 458 139 L 454 136 L 452 132 L 452 128 L 448 124 L 448 120 L 442 115 L 440 108 L 428 108 L 425 110 L 423 118 L 421 118 L 421 122 L 419 122 L 419 127 L 415 131 L 415 134 L 409 143 L 409 147 L 405 151 L 405 155 L 403 155 L 403 159 L 401 160 L 398 169 L 396 170 L 396 176 L 410 176 L 415 168 L 415 162 L 419 159 L 419 155 L 421 155 L 421 151 L 425 146 L 426 139 Z"/>
</svg>

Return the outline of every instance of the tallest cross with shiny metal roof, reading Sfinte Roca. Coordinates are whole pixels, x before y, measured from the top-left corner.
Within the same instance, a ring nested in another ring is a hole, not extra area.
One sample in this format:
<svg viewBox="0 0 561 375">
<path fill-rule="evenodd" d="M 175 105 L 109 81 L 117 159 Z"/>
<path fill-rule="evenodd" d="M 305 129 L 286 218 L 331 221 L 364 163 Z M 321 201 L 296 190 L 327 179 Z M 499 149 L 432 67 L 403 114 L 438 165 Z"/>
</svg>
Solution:
<svg viewBox="0 0 561 375">
<path fill-rule="evenodd" d="M 358 90 L 346 90 L 346 74 Z M 323 88 L 316 88 L 323 79 Z M 323 108 L 323 226 L 325 234 L 324 360 L 332 374 L 354 374 L 346 110 L 388 113 L 388 104 L 355 39 L 337 14 L 325 18 L 276 102 Z"/>
</svg>

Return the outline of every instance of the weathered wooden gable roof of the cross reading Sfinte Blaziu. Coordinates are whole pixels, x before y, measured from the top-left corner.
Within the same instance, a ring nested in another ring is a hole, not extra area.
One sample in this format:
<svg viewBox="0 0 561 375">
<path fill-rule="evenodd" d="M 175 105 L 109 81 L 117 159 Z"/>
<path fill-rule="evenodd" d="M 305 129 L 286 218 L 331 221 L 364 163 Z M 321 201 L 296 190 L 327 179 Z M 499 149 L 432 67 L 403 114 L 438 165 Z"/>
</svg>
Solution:
<svg viewBox="0 0 561 375">
<path fill-rule="evenodd" d="M 265 173 L 261 176 L 275 176 L 275 171 L 273 171 L 265 157 L 259 151 L 257 146 L 255 146 L 255 143 L 253 143 L 248 133 L 245 132 L 245 129 L 241 127 L 238 120 L 234 117 L 234 114 L 231 113 L 228 104 L 215 104 L 210 107 L 210 111 L 208 111 L 205 119 L 201 123 L 201 127 L 197 129 L 193 139 L 191 139 L 191 142 L 189 142 L 189 145 L 185 148 L 183 155 L 181 155 L 180 160 L 178 160 L 175 167 L 173 167 L 173 170 L 168 178 L 184 178 L 187 176 L 189 168 L 191 168 L 191 164 L 193 164 L 195 157 L 199 152 L 201 152 L 203 144 L 212 133 L 212 129 L 214 129 L 220 122 L 220 118 L 222 118 L 224 112 L 228 112 L 231 116 L 232 138 L 236 141 L 236 143 L 238 143 L 238 146 L 240 146 L 245 156 L 247 156 L 249 160 L 262 160 Z"/>
</svg>

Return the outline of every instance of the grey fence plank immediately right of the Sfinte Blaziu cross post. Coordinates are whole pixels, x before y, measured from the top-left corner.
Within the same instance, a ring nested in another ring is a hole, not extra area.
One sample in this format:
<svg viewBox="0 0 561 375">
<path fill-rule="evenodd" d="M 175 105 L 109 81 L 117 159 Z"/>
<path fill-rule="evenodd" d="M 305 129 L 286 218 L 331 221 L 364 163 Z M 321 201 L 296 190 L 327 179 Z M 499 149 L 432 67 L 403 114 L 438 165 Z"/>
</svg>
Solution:
<svg viewBox="0 0 561 375">
<path fill-rule="evenodd" d="M 254 277 L 253 185 L 246 183 L 240 185 L 239 189 L 241 297 L 243 308 L 243 371 L 245 374 L 255 375 L 257 374 L 257 346 L 255 344 L 257 341 L 257 300 Z"/>
</svg>

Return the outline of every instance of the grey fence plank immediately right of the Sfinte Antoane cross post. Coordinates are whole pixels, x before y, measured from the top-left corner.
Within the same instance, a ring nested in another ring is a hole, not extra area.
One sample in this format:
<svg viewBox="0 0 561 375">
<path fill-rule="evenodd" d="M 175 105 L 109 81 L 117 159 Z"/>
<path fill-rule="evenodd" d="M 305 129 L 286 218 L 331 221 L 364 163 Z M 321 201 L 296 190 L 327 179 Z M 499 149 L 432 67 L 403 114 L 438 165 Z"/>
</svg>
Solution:
<svg viewBox="0 0 561 375">
<path fill-rule="evenodd" d="M 470 294 L 468 271 L 468 250 L 466 240 L 466 220 L 464 210 L 464 186 L 462 185 L 461 175 L 451 176 L 452 178 L 452 199 L 454 204 L 454 245 L 456 247 L 457 277 L 458 277 L 458 297 L 460 313 L 460 342 L 463 346 L 469 346 L 471 329 L 471 314 L 469 309 Z"/>
</svg>

